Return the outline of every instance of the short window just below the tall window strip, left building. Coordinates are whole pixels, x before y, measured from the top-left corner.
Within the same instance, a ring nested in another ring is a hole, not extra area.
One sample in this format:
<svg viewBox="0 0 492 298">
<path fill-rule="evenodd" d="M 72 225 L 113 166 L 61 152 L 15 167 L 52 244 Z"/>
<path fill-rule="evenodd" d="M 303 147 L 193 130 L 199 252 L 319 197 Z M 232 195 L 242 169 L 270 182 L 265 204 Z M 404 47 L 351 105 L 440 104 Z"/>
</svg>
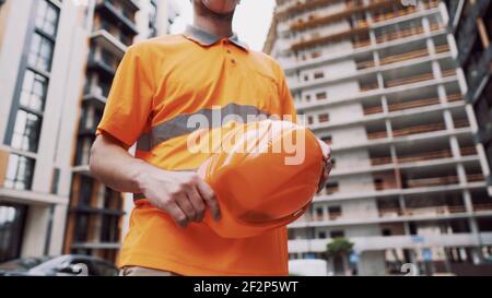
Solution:
<svg viewBox="0 0 492 298">
<path fill-rule="evenodd" d="M 34 159 L 11 154 L 3 186 L 9 189 L 30 190 L 33 182 Z"/>
</svg>

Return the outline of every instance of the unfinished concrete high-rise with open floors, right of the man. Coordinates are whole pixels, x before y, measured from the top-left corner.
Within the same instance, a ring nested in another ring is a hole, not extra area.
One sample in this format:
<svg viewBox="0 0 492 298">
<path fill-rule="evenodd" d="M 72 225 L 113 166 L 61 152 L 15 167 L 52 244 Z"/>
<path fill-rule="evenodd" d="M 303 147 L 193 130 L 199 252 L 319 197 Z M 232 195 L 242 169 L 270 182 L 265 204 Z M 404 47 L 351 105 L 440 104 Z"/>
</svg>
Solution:
<svg viewBox="0 0 492 298">
<path fill-rule="evenodd" d="M 265 50 L 283 67 L 297 110 L 332 147 L 335 167 L 311 213 L 289 227 L 291 259 L 329 271 L 492 274 L 492 198 L 477 121 L 464 100 L 444 3 L 277 0 Z"/>
</svg>

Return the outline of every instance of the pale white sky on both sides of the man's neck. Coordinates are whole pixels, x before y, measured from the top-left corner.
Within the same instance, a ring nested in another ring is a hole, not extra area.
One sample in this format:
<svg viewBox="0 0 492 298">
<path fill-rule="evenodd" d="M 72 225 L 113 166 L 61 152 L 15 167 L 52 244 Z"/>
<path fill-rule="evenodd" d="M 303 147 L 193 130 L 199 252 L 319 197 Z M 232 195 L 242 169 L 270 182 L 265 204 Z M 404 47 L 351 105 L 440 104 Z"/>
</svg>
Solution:
<svg viewBox="0 0 492 298">
<path fill-rule="evenodd" d="M 171 27 L 171 33 L 181 33 L 192 23 L 191 4 L 188 0 L 174 0 L 180 7 L 180 15 Z M 234 17 L 234 32 L 239 39 L 261 51 L 270 28 L 274 0 L 242 0 Z"/>
</svg>

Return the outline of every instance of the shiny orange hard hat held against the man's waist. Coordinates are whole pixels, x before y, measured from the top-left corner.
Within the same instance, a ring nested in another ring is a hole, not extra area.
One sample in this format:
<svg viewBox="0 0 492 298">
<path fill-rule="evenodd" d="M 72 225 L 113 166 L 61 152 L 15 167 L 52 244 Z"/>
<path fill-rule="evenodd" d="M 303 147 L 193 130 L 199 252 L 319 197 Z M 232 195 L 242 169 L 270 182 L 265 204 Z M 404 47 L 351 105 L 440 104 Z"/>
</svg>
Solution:
<svg viewBox="0 0 492 298">
<path fill-rule="evenodd" d="M 226 124 L 222 147 L 198 172 L 215 192 L 221 219 L 204 223 L 223 238 L 246 238 L 297 219 L 315 195 L 323 148 L 305 127 L 277 120 Z M 229 147 L 224 147 L 227 144 Z"/>
</svg>

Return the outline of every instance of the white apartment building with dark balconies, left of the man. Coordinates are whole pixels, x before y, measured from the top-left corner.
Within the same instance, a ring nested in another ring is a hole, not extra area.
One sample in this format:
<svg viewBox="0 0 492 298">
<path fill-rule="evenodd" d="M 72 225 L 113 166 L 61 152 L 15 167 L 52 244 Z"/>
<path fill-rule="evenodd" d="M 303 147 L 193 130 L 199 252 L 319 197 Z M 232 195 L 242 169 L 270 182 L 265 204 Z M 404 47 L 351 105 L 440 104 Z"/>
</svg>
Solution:
<svg viewBox="0 0 492 298">
<path fill-rule="evenodd" d="M 125 206 L 89 148 L 127 47 L 175 16 L 166 0 L 0 2 L 0 262 L 116 258 Z"/>
</svg>

